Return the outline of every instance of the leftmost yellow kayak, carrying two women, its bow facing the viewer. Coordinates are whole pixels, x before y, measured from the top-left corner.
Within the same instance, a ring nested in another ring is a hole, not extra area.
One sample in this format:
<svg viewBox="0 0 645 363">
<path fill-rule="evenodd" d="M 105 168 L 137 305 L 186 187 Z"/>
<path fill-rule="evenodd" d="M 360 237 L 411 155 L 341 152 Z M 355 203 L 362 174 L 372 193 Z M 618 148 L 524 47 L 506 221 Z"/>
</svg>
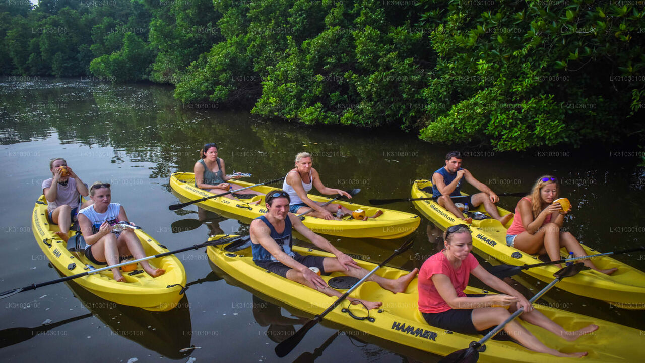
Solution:
<svg viewBox="0 0 645 363">
<path fill-rule="evenodd" d="M 84 254 L 71 252 L 66 244 L 54 232 L 60 231 L 57 225 L 47 222 L 47 200 L 42 195 L 35 203 L 32 214 L 32 230 L 36 242 L 63 275 L 71 276 L 87 271 L 87 265 L 94 268 L 105 267 L 95 265 L 85 258 Z M 158 244 L 151 236 L 141 229 L 135 229 L 146 255 L 168 252 L 165 246 Z M 70 236 L 75 234 L 70 231 Z M 90 293 L 117 304 L 141 307 L 151 311 L 167 311 L 177 306 L 183 295 L 179 295 L 182 287 L 186 285 L 186 271 L 184 266 L 175 256 L 164 256 L 150 260 L 150 264 L 166 270 L 161 276 L 152 278 L 143 272 L 141 265 L 131 273 L 123 273 L 126 282 L 116 282 L 112 271 L 101 271 L 92 275 L 75 278 L 74 281 Z M 179 286 L 179 285 L 181 286 Z M 175 285 L 174 287 L 170 287 Z"/>
</svg>

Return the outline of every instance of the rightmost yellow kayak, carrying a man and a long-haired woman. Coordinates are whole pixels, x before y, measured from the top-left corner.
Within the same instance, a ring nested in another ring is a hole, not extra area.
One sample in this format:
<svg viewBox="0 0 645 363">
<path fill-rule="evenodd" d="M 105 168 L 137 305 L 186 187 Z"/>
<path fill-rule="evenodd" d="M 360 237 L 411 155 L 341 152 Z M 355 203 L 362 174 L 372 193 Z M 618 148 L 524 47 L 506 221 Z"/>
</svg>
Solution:
<svg viewBox="0 0 645 363">
<path fill-rule="evenodd" d="M 412 198 L 432 196 L 432 193 L 421 191 L 422 188 L 429 186 L 432 186 L 432 182 L 428 180 L 415 181 L 412 185 Z M 466 195 L 463 192 L 462 194 Z M 438 223 L 442 229 L 448 229 L 451 225 L 462 223 L 461 220 L 455 218 L 450 211 L 441 207 L 435 200 L 417 200 L 413 203 L 421 214 L 433 222 Z M 471 212 L 475 211 L 486 213 L 483 205 L 480 205 Z M 501 216 L 510 213 L 501 207 L 497 207 L 497 211 L 499 211 Z M 503 264 L 530 265 L 542 262 L 538 259 L 537 255 L 528 254 L 515 247 L 506 245 L 506 228 L 512 222 L 513 220 L 511 219 L 506 226 L 502 226 L 502 223 L 492 218 L 473 220 L 471 227 L 473 246 L 493 256 Z M 600 253 L 586 245 L 582 245 L 582 247 L 587 254 Z M 562 249 L 562 254 L 566 256 L 567 251 Z M 618 267 L 618 271 L 611 276 L 593 270 L 581 271 L 578 275 L 562 280 L 558 284 L 558 288 L 576 295 L 603 300 L 625 309 L 645 309 L 644 272 L 610 256 L 593 258 L 593 264 L 600 269 Z M 555 265 L 550 265 L 533 267 L 522 271 L 544 282 L 551 282 L 553 280 L 553 274 L 558 269 Z"/>
</svg>

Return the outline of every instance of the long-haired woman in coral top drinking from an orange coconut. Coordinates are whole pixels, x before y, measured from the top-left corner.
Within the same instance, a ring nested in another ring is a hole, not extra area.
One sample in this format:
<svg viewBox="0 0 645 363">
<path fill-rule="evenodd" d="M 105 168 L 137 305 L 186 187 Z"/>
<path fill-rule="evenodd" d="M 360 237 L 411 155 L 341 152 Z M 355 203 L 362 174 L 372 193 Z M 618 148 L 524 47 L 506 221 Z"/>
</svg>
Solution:
<svg viewBox="0 0 645 363">
<path fill-rule="evenodd" d="M 551 261 L 560 260 L 560 249 L 565 247 L 574 256 L 584 256 L 584 249 L 573 234 L 561 231 L 564 215 L 560 203 L 553 203 L 558 198 L 560 185 L 550 175 L 541 176 L 531 189 L 530 196 L 525 196 L 515 207 L 515 219 L 506 232 L 506 244 L 530 254 L 547 253 Z M 582 260 L 584 265 L 611 275 L 613 269 L 599 269 L 591 260 Z"/>
</svg>

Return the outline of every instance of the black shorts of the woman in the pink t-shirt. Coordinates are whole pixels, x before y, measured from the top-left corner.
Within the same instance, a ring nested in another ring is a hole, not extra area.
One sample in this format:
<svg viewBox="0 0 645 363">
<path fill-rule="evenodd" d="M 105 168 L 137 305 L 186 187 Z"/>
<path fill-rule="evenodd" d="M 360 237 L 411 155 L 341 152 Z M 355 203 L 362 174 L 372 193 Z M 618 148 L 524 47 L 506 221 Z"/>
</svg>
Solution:
<svg viewBox="0 0 645 363">
<path fill-rule="evenodd" d="M 473 295 L 466 294 L 469 298 L 479 298 L 482 296 L 488 295 Z M 450 331 L 455 331 L 462 334 L 481 334 L 486 335 L 489 331 L 493 330 L 495 327 L 492 326 L 485 330 L 477 330 L 473 325 L 473 309 L 450 309 L 442 311 L 441 313 L 424 313 L 421 312 L 423 318 L 426 319 L 428 324 L 441 327 L 441 329 L 446 329 Z M 505 331 L 500 331 L 495 337 L 494 340 L 510 340 L 510 337 L 506 335 Z"/>
</svg>

